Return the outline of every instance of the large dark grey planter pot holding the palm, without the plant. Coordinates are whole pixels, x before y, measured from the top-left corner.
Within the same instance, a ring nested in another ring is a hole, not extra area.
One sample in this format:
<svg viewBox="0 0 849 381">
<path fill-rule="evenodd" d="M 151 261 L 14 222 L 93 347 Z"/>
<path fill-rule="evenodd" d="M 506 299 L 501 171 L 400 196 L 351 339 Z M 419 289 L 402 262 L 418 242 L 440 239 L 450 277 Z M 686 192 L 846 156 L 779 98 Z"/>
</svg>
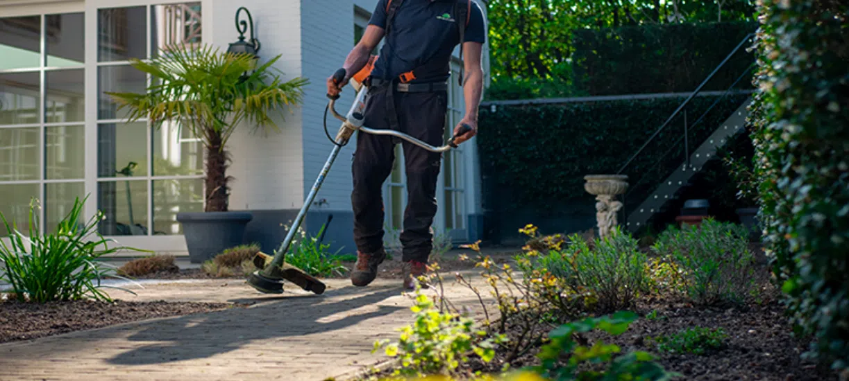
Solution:
<svg viewBox="0 0 849 381">
<path fill-rule="evenodd" d="M 203 263 L 224 249 L 242 245 L 245 227 L 253 217 L 248 212 L 177 213 L 177 222 L 183 224 L 189 260 Z"/>
</svg>

